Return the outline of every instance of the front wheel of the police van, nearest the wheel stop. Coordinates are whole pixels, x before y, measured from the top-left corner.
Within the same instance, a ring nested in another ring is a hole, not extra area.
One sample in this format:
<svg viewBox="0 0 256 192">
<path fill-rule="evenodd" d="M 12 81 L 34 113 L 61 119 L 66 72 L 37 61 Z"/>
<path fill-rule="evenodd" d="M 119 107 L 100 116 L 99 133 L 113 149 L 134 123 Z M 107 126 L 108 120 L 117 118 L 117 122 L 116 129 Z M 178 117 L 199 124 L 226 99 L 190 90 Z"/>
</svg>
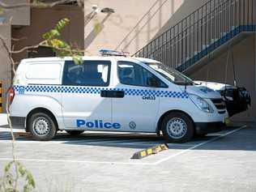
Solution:
<svg viewBox="0 0 256 192">
<path fill-rule="evenodd" d="M 172 112 L 161 123 L 164 139 L 169 143 L 185 143 L 194 136 L 194 122 L 185 113 Z"/>
</svg>

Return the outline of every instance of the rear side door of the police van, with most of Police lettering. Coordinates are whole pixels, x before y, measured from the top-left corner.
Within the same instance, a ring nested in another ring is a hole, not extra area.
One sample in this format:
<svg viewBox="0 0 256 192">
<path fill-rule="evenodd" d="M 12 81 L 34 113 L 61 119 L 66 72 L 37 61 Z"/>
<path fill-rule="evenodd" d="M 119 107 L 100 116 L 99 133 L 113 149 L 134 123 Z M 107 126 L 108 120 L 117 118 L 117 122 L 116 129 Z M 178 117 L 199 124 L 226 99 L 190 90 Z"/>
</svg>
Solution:
<svg viewBox="0 0 256 192">
<path fill-rule="evenodd" d="M 110 86 L 111 61 L 66 61 L 62 78 L 62 117 L 67 129 L 109 130 L 111 98 L 100 92 Z"/>
</svg>

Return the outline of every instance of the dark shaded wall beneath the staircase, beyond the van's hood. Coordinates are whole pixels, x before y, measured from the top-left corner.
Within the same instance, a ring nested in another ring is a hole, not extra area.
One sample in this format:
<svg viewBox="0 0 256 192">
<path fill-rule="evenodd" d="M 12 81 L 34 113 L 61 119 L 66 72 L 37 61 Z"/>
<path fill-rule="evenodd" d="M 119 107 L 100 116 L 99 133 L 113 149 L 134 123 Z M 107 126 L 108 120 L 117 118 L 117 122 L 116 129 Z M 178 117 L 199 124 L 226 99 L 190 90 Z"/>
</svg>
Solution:
<svg viewBox="0 0 256 192">
<path fill-rule="evenodd" d="M 255 95 L 255 39 L 250 35 L 245 40 L 233 46 L 234 65 L 237 75 L 237 85 L 246 87 L 252 96 L 252 106 L 244 113 L 233 117 L 235 121 L 255 121 L 256 95 Z M 203 66 L 189 76 L 192 79 L 208 80 L 224 83 L 227 52 Z M 207 78 L 208 74 L 208 78 Z M 231 59 L 228 64 L 227 82 L 233 84 L 233 66 Z"/>
</svg>

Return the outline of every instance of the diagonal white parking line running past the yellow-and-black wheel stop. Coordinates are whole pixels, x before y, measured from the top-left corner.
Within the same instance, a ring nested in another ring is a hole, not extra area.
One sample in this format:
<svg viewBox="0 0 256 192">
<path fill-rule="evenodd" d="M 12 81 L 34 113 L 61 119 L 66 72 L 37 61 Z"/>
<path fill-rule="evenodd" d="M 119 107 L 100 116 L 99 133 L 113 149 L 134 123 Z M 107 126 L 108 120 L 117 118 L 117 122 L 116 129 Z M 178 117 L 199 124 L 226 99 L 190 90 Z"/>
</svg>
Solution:
<svg viewBox="0 0 256 192">
<path fill-rule="evenodd" d="M 171 155 L 171 156 L 168 156 L 168 157 L 166 157 L 166 158 L 164 158 L 164 159 L 162 159 L 162 160 L 158 160 L 158 161 L 156 161 L 156 163 L 154 163 L 154 165 L 161 164 L 161 163 L 163 163 L 164 161 L 167 161 L 167 160 L 171 160 L 173 157 L 180 156 L 180 155 L 182 155 L 182 154 L 184 154 L 184 153 L 186 153 L 186 152 L 188 152 L 188 151 L 191 151 L 191 150 L 193 150 L 193 149 L 195 149 L 195 148 L 197 148 L 197 147 L 203 146 L 203 145 L 205 145 L 205 144 L 207 144 L 207 143 L 211 143 L 211 142 L 213 142 L 213 141 L 215 141 L 215 140 L 218 140 L 218 139 L 220 139 L 220 138 L 223 138 L 223 137 L 227 136 L 228 134 L 233 134 L 233 133 L 237 132 L 238 130 L 244 129 L 245 127 L 246 127 L 246 126 L 241 126 L 240 128 L 238 128 L 238 129 L 236 129 L 236 130 L 228 131 L 228 133 L 221 134 L 220 136 L 215 137 L 215 138 L 213 138 L 213 139 L 210 139 L 210 140 L 208 140 L 208 141 L 206 141 L 206 142 L 198 143 L 197 145 L 194 145 L 193 147 L 190 147 L 190 148 L 185 149 L 185 150 L 183 150 L 183 151 L 177 152 L 176 154 L 173 154 L 173 155 Z"/>
</svg>

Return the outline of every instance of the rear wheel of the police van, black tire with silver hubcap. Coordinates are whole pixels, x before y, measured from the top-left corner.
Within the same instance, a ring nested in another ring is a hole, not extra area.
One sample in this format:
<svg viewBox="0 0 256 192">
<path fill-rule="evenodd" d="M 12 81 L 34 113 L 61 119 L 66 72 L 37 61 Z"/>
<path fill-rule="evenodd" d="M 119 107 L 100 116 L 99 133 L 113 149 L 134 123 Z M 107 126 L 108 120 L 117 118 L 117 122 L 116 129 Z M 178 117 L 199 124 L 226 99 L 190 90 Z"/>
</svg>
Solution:
<svg viewBox="0 0 256 192">
<path fill-rule="evenodd" d="M 49 141 L 56 135 L 57 126 L 48 113 L 34 113 L 28 119 L 28 131 L 37 141 Z"/>
</svg>

